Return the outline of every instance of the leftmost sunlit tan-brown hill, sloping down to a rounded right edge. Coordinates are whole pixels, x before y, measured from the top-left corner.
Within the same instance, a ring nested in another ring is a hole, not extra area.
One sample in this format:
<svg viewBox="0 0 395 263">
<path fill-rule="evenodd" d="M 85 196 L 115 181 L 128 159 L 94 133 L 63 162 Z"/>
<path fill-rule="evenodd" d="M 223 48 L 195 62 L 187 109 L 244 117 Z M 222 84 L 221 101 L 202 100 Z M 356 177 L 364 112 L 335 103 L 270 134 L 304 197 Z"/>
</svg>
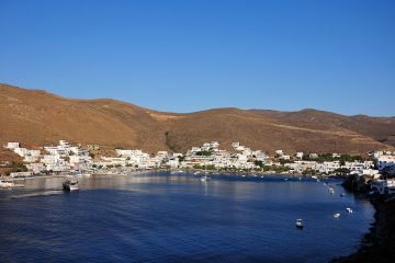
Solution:
<svg viewBox="0 0 395 263">
<path fill-rule="evenodd" d="M 0 140 L 24 145 L 72 142 L 163 147 L 161 124 L 147 110 L 113 100 L 68 100 L 44 91 L 0 85 Z"/>
</svg>

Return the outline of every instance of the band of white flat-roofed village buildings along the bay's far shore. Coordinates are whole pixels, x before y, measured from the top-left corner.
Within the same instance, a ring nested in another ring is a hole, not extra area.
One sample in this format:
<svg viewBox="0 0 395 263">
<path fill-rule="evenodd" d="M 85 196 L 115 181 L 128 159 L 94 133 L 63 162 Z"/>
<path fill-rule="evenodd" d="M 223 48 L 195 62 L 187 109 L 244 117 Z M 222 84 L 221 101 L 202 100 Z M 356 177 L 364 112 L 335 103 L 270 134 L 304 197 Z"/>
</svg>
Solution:
<svg viewBox="0 0 395 263">
<path fill-rule="evenodd" d="M 191 170 L 212 172 L 285 173 L 302 175 L 354 174 L 382 182 L 383 175 L 395 174 L 395 151 L 370 152 L 369 158 L 339 153 L 287 155 L 276 150 L 269 156 L 262 150 L 251 150 L 240 142 L 233 142 L 233 151 L 223 150 L 217 141 L 192 147 L 185 153 L 158 151 L 149 155 L 139 149 L 116 149 L 116 157 L 99 156 L 100 146 L 82 148 L 60 140 L 57 146 L 26 149 L 19 142 L 8 142 L 5 149 L 23 158 L 22 163 L 4 161 L 9 167 L 5 176 L 29 178 L 59 174 L 120 174 L 142 170 Z M 380 183 L 380 191 L 392 184 Z"/>
</svg>

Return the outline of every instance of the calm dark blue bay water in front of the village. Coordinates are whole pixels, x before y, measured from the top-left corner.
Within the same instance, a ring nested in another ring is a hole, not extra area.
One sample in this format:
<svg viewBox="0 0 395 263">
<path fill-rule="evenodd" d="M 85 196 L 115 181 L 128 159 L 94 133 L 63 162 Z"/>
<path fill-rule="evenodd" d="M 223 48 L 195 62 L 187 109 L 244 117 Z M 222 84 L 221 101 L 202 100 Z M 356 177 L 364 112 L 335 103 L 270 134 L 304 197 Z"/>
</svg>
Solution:
<svg viewBox="0 0 395 263">
<path fill-rule="evenodd" d="M 373 222 L 368 201 L 340 197 L 340 181 L 331 195 L 328 181 L 212 178 L 94 176 L 76 193 L 60 191 L 64 179 L 36 179 L 1 190 L 0 261 L 327 262 L 357 250 Z"/>
</svg>

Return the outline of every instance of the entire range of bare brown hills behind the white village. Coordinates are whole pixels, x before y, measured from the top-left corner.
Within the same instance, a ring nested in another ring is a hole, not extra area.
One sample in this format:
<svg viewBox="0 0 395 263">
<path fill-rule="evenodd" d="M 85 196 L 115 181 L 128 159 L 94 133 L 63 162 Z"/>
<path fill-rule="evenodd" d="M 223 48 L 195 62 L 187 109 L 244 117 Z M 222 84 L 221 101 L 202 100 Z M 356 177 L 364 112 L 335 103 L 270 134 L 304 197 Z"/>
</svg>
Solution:
<svg viewBox="0 0 395 263">
<path fill-rule="evenodd" d="M 395 118 L 345 116 L 316 110 L 215 108 L 162 113 L 115 100 L 71 100 L 0 84 L 0 142 L 29 147 L 67 139 L 103 148 L 184 151 L 217 140 L 273 152 L 365 153 L 395 146 Z M 1 156 L 1 155 L 0 155 Z"/>
</svg>

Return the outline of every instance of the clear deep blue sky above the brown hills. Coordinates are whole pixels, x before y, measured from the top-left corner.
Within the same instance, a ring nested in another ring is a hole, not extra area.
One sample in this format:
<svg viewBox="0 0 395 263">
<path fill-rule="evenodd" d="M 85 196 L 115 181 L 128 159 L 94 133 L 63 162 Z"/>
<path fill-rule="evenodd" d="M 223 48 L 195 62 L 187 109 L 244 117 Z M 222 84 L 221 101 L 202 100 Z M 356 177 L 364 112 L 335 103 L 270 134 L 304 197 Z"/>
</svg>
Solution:
<svg viewBox="0 0 395 263">
<path fill-rule="evenodd" d="M 395 115 L 395 1 L 0 0 L 0 82 L 145 107 Z"/>
</svg>

